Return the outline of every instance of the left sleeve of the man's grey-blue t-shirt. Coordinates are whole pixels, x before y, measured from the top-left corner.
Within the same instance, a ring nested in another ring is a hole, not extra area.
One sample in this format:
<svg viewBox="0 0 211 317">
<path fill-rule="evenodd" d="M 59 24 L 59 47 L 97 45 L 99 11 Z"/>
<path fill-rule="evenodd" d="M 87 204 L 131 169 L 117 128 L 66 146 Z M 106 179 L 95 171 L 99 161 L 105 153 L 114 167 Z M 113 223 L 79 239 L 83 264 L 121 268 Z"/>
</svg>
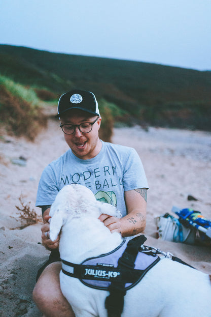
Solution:
<svg viewBox="0 0 211 317">
<path fill-rule="evenodd" d="M 52 205 L 59 187 L 51 165 L 46 166 L 38 185 L 36 206 Z"/>
</svg>

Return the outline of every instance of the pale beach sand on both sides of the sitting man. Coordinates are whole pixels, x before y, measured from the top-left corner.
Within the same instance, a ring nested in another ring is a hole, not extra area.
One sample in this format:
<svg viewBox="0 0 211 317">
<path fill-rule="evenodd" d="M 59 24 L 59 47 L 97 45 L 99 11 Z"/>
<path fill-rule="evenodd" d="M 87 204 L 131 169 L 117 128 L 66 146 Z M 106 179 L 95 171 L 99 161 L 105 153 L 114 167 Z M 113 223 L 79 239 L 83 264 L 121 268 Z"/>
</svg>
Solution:
<svg viewBox="0 0 211 317">
<path fill-rule="evenodd" d="M 170 251 L 195 268 L 211 274 L 211 248 L 156 239 L 155 217 L 170 213 L 172 206 L 199 210 L 211 218 L 211 133 L 135 126 L 115 128 L 113 142 L 134 147 L 145 167 L 148 191 L 147 245 Z M 16 206 L 34 207 L 44 167 L 67 145 L 57 122 L 50 120 L 32 143 L 4 135 L 0 141 L 0 315 L 38 317 L 42 314 L 31 294 L 38 268 L 49 251 L 41 244 L 41 222 L 20 229 Z M 21 158 L 21 159 L 20 159 Z M 20 165 L 21 164 L 21 165 Z M 198 200 L 187 199 L 188 195 Z"/>
</svg>

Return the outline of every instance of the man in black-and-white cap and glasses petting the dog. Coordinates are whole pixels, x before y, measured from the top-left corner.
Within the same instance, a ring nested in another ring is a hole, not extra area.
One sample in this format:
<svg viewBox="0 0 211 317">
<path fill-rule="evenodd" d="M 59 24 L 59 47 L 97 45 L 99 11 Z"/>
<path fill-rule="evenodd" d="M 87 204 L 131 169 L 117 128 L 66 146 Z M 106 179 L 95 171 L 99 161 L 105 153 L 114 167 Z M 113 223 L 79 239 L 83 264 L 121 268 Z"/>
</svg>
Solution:
<svg viewBox="0 0 211 317">
<path fill-rule="evenodd" d="M 98 137 L 101 117 L 93 93 L 74 90 L 58 102 L 60 127 L 69 150 L 43 171 L 36 206 L 42 208 L 43 245 L 52 250 L 39 271 L 33 299 L 44 316 L 74 316 L 59 286 L 61 262 L 56 241 L 49 238 L 49 212 L 58 191 L 67 184 L 89 187 L 96 199 L 116 206 L 121 219 L 102 214 L 99 219 L 123 237 L 143 232 L 146 225 L 147 179 L 134 149 L 103 142 Z"/>
</svg>

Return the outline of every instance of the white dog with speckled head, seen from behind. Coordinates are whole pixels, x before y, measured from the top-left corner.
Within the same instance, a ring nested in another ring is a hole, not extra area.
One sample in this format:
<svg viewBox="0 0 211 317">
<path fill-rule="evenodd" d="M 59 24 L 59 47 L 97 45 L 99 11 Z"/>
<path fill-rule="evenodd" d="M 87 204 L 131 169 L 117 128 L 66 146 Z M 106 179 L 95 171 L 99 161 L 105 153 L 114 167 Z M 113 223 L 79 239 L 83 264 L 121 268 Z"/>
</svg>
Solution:
<svg viewBox="0 0 211 317">
<path fill-rule="evenodd" d="M 64 186 L 51 206 L 50 238 L 61 230 L 59 251 L 62 260 L 81 264 L 87 258 L 111 252 L 123 241 L 98 219 L 100 214 L 120 217 L 115 207 L 100 203 L 82 185 Z M 140 252 L 139 252 L 140 253 Z M 80 279 L 60 272 L 63 295 L 76 317 L 106 317 L 107 290 L 96 290 Z M 149 272 L 124 296 L 122 317 L 210 317 L 209 276 L 167 258 Z"/>
</svg>

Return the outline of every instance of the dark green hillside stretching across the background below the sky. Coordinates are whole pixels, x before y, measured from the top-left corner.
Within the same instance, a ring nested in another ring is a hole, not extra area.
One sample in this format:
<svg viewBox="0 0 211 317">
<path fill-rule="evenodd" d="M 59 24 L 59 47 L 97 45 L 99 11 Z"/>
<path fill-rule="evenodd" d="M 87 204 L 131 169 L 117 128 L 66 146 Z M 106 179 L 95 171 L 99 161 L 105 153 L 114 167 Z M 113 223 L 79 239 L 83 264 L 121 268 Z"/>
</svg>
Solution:
<svg viewBox="0 0 211 317">
<path fill-rule="evenodd" d="M 210 71 L 10 45 L 0 45 L 0 69 L 39 100 L 54 104 L 55 113 L 59 95 L 79 88 L 92 91 L 101 112 L 115 122 L 211 130 Z"/>
</svg>

